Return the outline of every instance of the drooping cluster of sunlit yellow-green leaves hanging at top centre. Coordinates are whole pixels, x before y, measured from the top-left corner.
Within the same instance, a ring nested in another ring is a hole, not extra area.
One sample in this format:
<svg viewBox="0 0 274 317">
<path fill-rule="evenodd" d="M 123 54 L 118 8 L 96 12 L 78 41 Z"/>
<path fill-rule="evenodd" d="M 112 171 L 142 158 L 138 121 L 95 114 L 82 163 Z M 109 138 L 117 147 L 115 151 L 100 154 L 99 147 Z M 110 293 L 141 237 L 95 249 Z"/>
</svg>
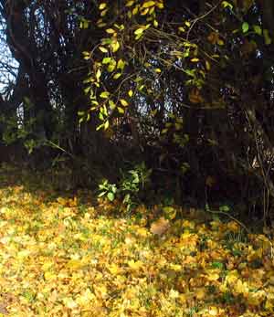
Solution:
<svg viewBox="0 0 274 317">
<path fill-rule="evenodd" d="M 139 82 L 138 76 L 133 79 L 133 76 L 128 76 L 127 71 L 125 71 L 125 67 L 132 60 L 132 57 L 128 56 L 127 49 L 132 46 L 132 41 L 142 39 L 146 30 L 158 26 L 157 12 L 163 7 L 163 0 L 121 2 L 120 7 L 116 8 L 119 12 L 119 18 L 115 19 L 114 23 L 111 22 L 111 15 L 113 15 L 111 3 L 104 0 L 98 3 L 99 18 L 94 22 L 99 27 L 99 32 L 103 30 L 106 36 L 100 38 L 98 45 L 92 49 L 92 52 L 83 52 L 84 59 L 92 60 L 92 70 L 89 77 L 84 80 L 84 83 L 87 84 L 84 91 L 90 96 L 90 109 L 79 111 L 80 122 L 89 121 L 90 112 L 97 111 L 100 119 L 97 130 L 104 129 L 106 131 L 111 126 L 110 118 L 113 113 L 117 116 L 126 113 L 133 96 L 133 90 L 128 89 L 128 87 L 138 90 L 144 88 L 144 85 Z M 135 22 L 132 23 L 132 21 Z M 89 26 L 88 24 L 85 27 L 86 25 L 87 22 L 82 23 L 81 27 L 87 28 Z M 118 58 L 121 56 L 123 58 Z M 155 75 L 159 75 L 162 70 L 155 68 L 153 71 Z M 110 79 L 117 81 L 115 84 L 117 90 L 113 91 L 106 84 L 106 75 L 108 81 Z"/>
</svg>

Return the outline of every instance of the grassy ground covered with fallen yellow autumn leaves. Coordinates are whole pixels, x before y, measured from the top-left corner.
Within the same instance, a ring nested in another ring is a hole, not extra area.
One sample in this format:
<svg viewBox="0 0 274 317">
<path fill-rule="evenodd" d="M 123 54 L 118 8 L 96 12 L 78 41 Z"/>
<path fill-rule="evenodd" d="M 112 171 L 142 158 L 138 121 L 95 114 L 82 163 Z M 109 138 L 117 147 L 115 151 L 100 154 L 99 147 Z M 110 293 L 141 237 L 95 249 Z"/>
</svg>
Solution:
<svg viewBox="0 0 274 317">
<path fill-rule="evenodd" d="M 144 206 L 118 217 L 88 191 L 60 195 L 14 173 L 0 170 L 0 316 L 274 315 L 266 236 L 182 208 L 169 227 L 149 225 Z"/>
</svg>

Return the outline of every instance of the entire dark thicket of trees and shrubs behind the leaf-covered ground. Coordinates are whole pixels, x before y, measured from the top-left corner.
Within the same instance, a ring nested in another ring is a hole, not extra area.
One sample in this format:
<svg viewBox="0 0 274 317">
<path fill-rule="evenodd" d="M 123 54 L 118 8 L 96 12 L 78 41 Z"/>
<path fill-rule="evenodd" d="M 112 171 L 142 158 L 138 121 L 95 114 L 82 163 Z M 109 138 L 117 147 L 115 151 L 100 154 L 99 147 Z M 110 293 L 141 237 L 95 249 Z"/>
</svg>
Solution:
<svg viewBox="0 0 274 317">
<path fill-rule="evenodd" d="M 69 171 L 93 184 L 143 161 L 176 202 L 229 201 L 267 224 L 273 21 L 269 0 L 0 0 L 13 58 L 0 62 L 13 78 L 0 95 L 0 143 L 39 158 L 55 143 L 59 153 L 37 164 L 64 149 Z"/>
</svg>

